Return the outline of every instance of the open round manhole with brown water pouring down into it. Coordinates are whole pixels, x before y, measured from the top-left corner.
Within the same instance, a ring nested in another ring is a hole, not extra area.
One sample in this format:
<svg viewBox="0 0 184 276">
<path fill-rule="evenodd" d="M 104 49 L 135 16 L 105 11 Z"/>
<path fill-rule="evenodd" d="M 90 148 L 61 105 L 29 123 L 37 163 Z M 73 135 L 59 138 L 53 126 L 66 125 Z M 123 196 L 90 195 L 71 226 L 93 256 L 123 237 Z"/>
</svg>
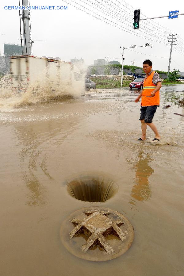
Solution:
<svg viewBox="0 0 184 276">
<path fill-rule="evenodd" d="M 68 193 L 82 201 L 105 202 L 118 190 L 116 182 L 98 175 L 82 175 L 67 182 Z"/>
</svg>

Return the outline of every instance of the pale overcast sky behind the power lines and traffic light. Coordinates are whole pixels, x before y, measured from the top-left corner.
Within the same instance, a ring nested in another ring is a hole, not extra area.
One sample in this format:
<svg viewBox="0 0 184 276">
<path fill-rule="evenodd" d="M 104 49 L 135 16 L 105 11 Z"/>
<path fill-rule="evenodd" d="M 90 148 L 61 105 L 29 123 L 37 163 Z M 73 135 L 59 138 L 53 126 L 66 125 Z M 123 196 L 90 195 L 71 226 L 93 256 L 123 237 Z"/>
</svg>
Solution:
<svg viewBox="0 0 184 276">
<path fill-rule="evenodd" d="M 131 61 L 134 60 L 134 65 L 142 66 L 142 61 L 149 58 L 153 62 L 153 69 L 167 71 L 170 55 L 170 46 L 166 46 L 167 36 L 177 33 L 179 35 L 178 45 L 173 46 L 171 70 L 177 68 L 184 71 L 184 15 L 177 19 L 167 19 L 166 17 L 155 19 L 154 22 L 151 20 L 140 21 L 139 30 L 133 30 L 132 25 L 134 9 L 140 8 L 141 16 L 144 18 L 145 16 L 164 16 L 173 10 L 184 13 L 183 0 L 74 1 L 67 0 L 70 3 L 68 4 L 62 0 L 30 0 L 32 6 L 67 6 L 67 10 L 31 11 L 32 39 L 35 40 L 33 44 L 34 56 L 60 57 L 64 61 L 70 61 L 76 56 L 77 58 L 82 57 L 85 64 L 88 65 L 93 63 L 94 59 L 105 59 L 109 55 L 112 58 L 109 60 L 119 58 L 117 60 L 121 62 L 120 46 L 141 46 L 147 42 L 151 43 L 153 47 L 125 50 L 125 64 L 132 64 Z M 17 10 L 5 10 L 5 5 L 18 5 L 18 1 L 1 0 L 0 2 L 0 33 L 6 34 L 6 36 L 0 34 L 0 52 L 2 55 L 4 55 L 4 42 L 20 44 L 20 40 L 18 40 L 20 38 L 19 12 Z M 101 18 L 105 22 L 95 17 Z M 109 25 L 107 22 L 120 29 Z"/>
</svg>

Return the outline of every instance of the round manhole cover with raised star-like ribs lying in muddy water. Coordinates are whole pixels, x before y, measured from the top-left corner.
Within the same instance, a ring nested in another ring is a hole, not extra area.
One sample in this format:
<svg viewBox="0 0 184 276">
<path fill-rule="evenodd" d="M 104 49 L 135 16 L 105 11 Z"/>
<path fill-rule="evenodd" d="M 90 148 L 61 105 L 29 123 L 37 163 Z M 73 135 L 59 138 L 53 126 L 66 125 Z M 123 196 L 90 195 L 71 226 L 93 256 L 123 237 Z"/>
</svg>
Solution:
<svg viewBox="0 0 184 276">
<path fill-rule="evenodd" d="M 60 237 L 73 255 L 90 261 L 106 261 L 128 250 L 134 232 L 121 213 L 89 207 L 75 211 L 63 221 Z"/>
</svg>

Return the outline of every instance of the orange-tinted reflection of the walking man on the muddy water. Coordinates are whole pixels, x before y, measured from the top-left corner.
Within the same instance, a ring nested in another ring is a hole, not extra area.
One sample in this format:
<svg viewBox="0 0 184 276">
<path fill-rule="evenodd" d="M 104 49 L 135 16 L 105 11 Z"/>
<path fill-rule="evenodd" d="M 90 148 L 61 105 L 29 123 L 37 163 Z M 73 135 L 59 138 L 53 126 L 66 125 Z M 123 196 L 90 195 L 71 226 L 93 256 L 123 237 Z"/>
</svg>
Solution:
<svg viewBox="0 0 184 276">
<path fill-rule="evenodd" d="M 151 197 L 151 189 L 148 178 L 154 170 L 148 165 L 150 154 L 144 155 L 141 151 L 138 155 L 139 160 L 136 163 L 136 184 L 132 187 L 131 196 L 138 201 L 148 200 Z M 131 202 L 133 204 L 133 202 Z"/>
</svg>

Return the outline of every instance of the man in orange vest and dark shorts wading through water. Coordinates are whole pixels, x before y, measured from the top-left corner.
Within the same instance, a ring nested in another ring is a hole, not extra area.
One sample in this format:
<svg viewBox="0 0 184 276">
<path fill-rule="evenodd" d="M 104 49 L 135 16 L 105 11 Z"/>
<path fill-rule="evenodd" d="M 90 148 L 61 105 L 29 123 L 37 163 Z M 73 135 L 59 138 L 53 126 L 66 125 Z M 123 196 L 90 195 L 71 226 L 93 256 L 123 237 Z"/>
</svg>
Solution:
<svg viewBox="0 0 184 276">
<path fill-rule="evenodd" d="M 151 60 L 146 59 L 143 61 L 143 71 L 146 73 L 143 90 L 135 99 L 135 102 L 139 102 L 142 97 L 139 119 L 141 121 L 142 137 L 138 140 L 143 141 L 146 139 L 146 127 L 148 125 L 155 133 L 153 141 L 159 141 L 160 135 L 156 126 L 153 124 L 152 119 L 156 112 L 157 106 L 160 104 L 159 90 L 162 83 L 159 74 L 152 70 Z"/>
</svg>

